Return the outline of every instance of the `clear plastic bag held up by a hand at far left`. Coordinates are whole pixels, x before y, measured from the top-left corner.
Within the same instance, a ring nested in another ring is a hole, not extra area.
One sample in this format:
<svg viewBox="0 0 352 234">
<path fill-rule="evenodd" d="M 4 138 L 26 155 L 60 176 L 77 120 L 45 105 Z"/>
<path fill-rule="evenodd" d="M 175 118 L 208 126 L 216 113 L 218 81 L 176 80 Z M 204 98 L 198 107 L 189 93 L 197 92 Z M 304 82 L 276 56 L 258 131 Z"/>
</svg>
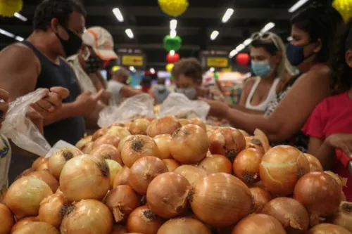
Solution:
<svg viewBox="0 0 352 234">
<path fill-rule="evenodd" d="M 27 110 L 31 108 L 30 105 L 41 100 L 44 96 L 46 96 L 46 91 L 37 89 L 11 102 L 0 129 L 0 134 L 11 139 L 19 148 L 39 156 L 46 155 L 51 147 L 37 126 L 26 117 L 26 114 Z"/>
</svg>

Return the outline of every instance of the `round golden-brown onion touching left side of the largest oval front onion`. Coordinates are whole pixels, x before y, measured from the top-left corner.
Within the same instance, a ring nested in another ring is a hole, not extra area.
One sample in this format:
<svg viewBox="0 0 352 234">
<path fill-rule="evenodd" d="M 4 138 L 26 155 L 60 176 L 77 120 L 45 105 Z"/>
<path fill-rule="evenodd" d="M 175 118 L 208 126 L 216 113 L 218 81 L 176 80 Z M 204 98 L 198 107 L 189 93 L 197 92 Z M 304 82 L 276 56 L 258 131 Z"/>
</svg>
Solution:
<svg viewBox="0 0 352 234">
<path fill-rule="evenodd" d="M 151 181 L 146 192 L 146 201 L 158 216 L 171 219 L 186 209 L 190 188 L 186 178 L 175 172 L 167 172 Z"/>
</svg>

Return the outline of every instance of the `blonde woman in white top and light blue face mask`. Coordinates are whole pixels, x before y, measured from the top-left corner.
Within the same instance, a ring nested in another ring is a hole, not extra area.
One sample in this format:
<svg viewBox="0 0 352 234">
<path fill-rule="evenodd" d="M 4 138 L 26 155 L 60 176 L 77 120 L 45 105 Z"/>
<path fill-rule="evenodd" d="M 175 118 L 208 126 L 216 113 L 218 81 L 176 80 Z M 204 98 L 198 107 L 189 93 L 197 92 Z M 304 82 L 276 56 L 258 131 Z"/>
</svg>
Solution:
<svg viewBox="0 0 352 234">
<path fill-rule="evenodd" d="M 246 112 L 263 114 L 287 82 L 287 78 L 294 73 L 294 68 L 289 64 L 286 46 L 277 34 L 258 32 L 251 39 L 251 68 L 256 77 L 244 82 L 239 108 Z"/>
</svg>

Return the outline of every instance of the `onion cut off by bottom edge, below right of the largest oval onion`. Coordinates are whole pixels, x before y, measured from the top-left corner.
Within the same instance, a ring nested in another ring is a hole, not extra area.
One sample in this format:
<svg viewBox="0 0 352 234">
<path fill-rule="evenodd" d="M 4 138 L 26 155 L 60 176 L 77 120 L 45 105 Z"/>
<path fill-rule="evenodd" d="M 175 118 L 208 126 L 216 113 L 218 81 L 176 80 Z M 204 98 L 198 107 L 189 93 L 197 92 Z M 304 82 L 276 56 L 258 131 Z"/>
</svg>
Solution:
<svg viewBox="0 0 352 234">
<path fill-rule="evenodd" d="M 286 234 L 282 225 L 272 216 L 253 214 L 237 223 L 232 234 Z"/>
</svg>

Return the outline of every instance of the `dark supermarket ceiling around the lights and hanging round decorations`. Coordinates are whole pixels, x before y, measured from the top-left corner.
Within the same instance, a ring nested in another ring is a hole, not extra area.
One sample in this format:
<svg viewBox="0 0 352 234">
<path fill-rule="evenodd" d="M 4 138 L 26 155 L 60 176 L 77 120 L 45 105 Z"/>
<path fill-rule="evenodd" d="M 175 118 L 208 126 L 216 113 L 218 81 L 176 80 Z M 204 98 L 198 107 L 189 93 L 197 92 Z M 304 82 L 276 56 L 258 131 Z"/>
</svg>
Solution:
<svg viewBox="0 0 352 234">
<path fill-rule="evenodd" d="M 203 50 L 232 51 L 253 32 L 262 29 L 268 22 L 274 22 L 272 32 L 283 39 L 289 36 L 288 9 L 298 0 L 189 0 L 188 10 L 177 17 L 177 35 L 182 38 L 181 57 L 198 57 Z M 322 0 L 324 1 L 324 0 Z M 328 0 L 327 0 L 328 1 Z M 35 7 L 40 0 L 24 0 L 20 14 L 28 20 L 0 18 L 0 28 L 20 37 L 27 37 L 31 30 Z M 163 37 L 170 33 L 170 20 L 158 6 L 157 0 L 82 0 L 87 10 L 87 27 L 102 26 L 111 34 L 115 48 L 141 49 L 146 56 L 146 69 L 161 69 L 166 65 L 166 51 Z M 308 1 L 309 3 L 309 1 Z M 119 8 L 124 18 L 119 22 L 113 14 Z M 227 8 L 233 8 L 230 20 L 222 23 Z M 131 39 L 125 30 L 134 34 Z M 210 40 L 213 30 L 219 34 Z M 0 34 L 0 48 L 14 40 Z"/>
</svg>

